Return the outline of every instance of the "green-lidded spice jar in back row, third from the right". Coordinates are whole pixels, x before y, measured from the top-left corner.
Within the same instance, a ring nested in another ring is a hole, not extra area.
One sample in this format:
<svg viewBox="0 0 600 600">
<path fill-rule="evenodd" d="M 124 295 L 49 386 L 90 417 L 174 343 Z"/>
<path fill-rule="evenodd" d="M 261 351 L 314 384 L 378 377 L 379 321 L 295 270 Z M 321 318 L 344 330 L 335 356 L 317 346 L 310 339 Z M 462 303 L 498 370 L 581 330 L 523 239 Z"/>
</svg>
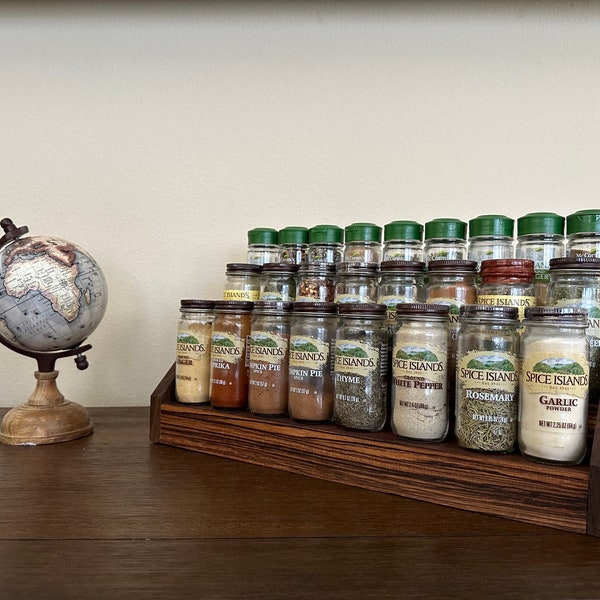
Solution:
<svg viewBox="0 0 600 600">
<path fill-rule="evenodd" d="M 469 260 L 481 264 L 492 258 L 514 258 L 514 219 L 480 215 L 469 221 Z"/>
</svg>

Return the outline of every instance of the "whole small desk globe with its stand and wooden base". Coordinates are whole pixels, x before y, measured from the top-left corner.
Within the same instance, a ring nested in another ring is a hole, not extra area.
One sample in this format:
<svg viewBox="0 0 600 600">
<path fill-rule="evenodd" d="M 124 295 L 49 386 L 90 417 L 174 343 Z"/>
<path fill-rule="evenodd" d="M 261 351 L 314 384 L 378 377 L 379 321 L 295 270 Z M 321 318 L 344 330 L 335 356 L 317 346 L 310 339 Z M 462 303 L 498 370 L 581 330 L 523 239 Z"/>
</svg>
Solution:
<svg viewBox="0 0 600 600">
<path fill-rule="evenodd" d="M 51 236 L 21 237 L 29 229 L 2 219 L 0 343 L 36 359 L 36 387 L 0 425 L 5 444 L 51 444 L 92 432 L 87 410 L 65 400 L 56 385 L 58 358 L 74 356 L 86 369 L 82 345 L 106 311 L 108 290 L 94 259 L 81 247 Z"/>
</svg>

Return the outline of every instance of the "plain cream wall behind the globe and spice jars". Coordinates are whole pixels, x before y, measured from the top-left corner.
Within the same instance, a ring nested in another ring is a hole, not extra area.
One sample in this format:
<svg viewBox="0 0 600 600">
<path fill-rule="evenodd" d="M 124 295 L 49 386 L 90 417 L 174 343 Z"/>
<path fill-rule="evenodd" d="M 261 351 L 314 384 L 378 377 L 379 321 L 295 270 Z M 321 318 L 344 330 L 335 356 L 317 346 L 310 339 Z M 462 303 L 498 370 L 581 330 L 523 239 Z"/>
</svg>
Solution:
<svg viewBox="0 0 600 600">
<path fill-rule="evenodd" d="M 0 218 L 110 286 L 61 391 L 147 404 L 252 227 L 598 207 L 598 7 L 0 5 Z M 34 369 L 0 347 L 0 405 Z"/>
</svg>

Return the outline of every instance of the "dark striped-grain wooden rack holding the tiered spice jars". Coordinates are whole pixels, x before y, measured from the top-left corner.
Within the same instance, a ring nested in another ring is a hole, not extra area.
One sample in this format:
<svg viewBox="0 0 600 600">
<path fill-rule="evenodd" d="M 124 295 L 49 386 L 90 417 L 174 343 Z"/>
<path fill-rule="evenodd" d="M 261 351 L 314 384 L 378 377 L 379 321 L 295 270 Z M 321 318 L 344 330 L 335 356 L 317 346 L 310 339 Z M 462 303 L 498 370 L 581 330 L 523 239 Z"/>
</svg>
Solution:
<svg viewBox="0 0 600 600">
<path fill-rule="evenodd" d="M 600 419 L 578 466 L 540 465 L 518 454 L 470 452 L 453 439 L 403 442 L 391 431 L 254 417 L 175 400 L 175 366 L 151 396 L 153 442 L 356 487 L 600 537 Z"/>
</svg>

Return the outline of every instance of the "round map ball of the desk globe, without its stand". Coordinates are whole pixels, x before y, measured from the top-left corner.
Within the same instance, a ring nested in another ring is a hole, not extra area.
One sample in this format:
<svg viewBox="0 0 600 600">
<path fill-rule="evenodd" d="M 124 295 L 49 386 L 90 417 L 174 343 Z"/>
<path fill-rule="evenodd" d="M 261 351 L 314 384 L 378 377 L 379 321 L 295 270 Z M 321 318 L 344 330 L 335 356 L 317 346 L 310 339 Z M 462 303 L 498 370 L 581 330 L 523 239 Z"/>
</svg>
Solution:
<svg viewBox="0 0 600 600">
<path fill-rule="evenodd" d="M 0 248 L 0 336 L 33 352 L 67 350 L 96 329 L 106 280 L 82 248 L 55 237 L 25 237 Z"/>
</svg>

